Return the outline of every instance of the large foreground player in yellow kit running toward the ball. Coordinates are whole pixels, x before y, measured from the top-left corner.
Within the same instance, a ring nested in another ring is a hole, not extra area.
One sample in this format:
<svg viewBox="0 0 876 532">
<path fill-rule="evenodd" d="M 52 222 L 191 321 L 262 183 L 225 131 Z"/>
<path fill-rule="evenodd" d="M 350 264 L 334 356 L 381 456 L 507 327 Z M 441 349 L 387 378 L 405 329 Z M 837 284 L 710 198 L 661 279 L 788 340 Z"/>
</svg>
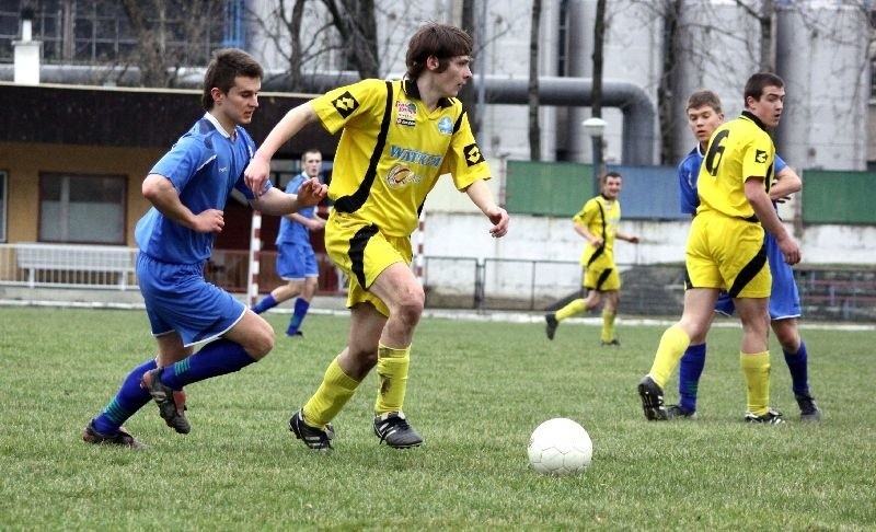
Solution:
<svg viewBox="0 0 876 532">
<path fill-rule="evenodd" d="M 450 173 L 493 223 L 493 236 L 508 230 L 508 213 L 485 183 L 489 167 L 456 97 L 472 76 L 471 51 L 472 39 L 462 30 L 425 25 L 411 38 L 404 80 L 364 80 L 291 109 L 245 172 L 257 187 L 267 178 L 273 154 L 307 124 L 342 131 L 328 187 L 334 210 L 325 248 L 349 278 L 350 334 L 320 388 L 289 420 L 311 449 L 331 449 L 332 419 L 374 367 L 374 433 L 393 448 L 423 442 L 402 406 L 425 302 L 411 270 L 411 233 L 426 194 L 438 176 Z"/>
</svg>

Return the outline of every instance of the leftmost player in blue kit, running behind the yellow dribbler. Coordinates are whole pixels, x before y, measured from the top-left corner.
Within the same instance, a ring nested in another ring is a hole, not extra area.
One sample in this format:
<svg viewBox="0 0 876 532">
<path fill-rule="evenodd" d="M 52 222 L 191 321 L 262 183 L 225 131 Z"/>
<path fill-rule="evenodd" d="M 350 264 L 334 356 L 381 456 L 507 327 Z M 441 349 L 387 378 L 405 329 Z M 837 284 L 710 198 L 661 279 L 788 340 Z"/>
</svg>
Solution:
<svg viewBox="0 0 876 532">
<path fill-rule="evenodd" d="M 298 196 L 265 182 L 258 195 L 243 170 L 255 144 L 241 126 L 258 107 L 262 67 L 238 49 L 217 51 L 204 77 L 206 113 L 155 163 L 142 183 L 152 208 L 135 230 L 140 253 L 137 276 L 158 342 L 158 356 L 128 374 L 116 396 L 85 427 L 88 443 L 142 448 L 122 424 L 150 398 L 169 427 L 187 433 L 183 386 L 233 371 L 265 357 L 274 331 L 230 293 L 204 279 L 222 209 L 233 189 L 267 215 L 285 215 L 318 204 L 326 188 L 311 180 Z M 195 345 L 208 343 L 194 352 Z"/>
</svg>

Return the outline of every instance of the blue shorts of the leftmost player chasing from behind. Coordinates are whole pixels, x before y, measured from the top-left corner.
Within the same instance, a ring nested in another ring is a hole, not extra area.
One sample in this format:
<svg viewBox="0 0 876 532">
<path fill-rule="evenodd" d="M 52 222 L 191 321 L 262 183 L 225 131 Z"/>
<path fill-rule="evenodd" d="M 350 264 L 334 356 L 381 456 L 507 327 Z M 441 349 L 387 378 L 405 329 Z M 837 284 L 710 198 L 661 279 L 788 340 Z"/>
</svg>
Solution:
<svg viewBox="0 0 876 532">
<path fill-rule="evenodd" d="M 246 307 L 204 279 L 203 265 L 166 264 L 137 254 L 137 278 L 153 336 L 176 332 L 185 346 L 216 339 Z"/>
</svg>

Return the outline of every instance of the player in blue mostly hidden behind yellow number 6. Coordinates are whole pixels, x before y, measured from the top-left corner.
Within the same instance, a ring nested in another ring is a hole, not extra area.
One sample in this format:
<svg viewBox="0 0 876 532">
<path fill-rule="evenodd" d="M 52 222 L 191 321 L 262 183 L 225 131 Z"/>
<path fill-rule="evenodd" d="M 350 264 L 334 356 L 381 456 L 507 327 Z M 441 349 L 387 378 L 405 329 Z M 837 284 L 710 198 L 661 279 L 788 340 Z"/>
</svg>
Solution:
<svg viewBox="0 0 876 532">
<path fill-rule="evenodd" d="M 712 91 L 693 93 L 688 99 L 687 112 L 688 125 L 699 143 L 679 164 L 679 199 L 681 211 L 693 216 L 700 205 L 696 180 L 703 162 L 703 153 L 712 132 L 724 122 L 724 114 L 721 100 Z M 796 172 L 787 166 L 779 155 L 775 155 L 774 175 L 775 183 L 769 192 L 774 205 L 798 192 L 803 186 Z M 785 362 L 791 371 L 792 389 L 800 408 L 800 419 L 817 421 L 821 418 L 821 412 L 809 392 L 808 355 L 806 344 L 797 329 L 800 298 L 794 281 L 794 271 L 785 263 L 775 239 L 770 233 L 766 233 L 766 257 L 772 273 L 772 291 L 770 292 L 772 328 L 782 346 Z M 723 292 L 715 304 L 715 311 L 729 316 L 734 314 L 735 310 L 733 300 L 726 292 Z M 691 345 L 684 351 L 679 366 L 680 403 L 667 407 L 670 418 L 695 416 L 696 392 L 700 375 L 705 366 L 705 336 L 691 338 Z"/>
</svg>

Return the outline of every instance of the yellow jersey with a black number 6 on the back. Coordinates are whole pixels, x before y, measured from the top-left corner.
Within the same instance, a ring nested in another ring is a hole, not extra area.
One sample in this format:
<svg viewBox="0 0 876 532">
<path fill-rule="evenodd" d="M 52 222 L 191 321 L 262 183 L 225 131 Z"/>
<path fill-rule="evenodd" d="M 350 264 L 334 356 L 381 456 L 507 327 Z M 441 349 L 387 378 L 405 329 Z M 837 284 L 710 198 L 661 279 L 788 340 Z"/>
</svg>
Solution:
<svg viewBox="0 0 876 532">
<path fill-rule="evenodd" d="M 763 123 L 749 112 L 715 129 L 708 139 L 696 180 L 700 207 L 731 218 L 756 221 L 746 197 L 749 177 L 763 180 L 766 192 L 773 180 L 775 147 Z"/>
</svg>

